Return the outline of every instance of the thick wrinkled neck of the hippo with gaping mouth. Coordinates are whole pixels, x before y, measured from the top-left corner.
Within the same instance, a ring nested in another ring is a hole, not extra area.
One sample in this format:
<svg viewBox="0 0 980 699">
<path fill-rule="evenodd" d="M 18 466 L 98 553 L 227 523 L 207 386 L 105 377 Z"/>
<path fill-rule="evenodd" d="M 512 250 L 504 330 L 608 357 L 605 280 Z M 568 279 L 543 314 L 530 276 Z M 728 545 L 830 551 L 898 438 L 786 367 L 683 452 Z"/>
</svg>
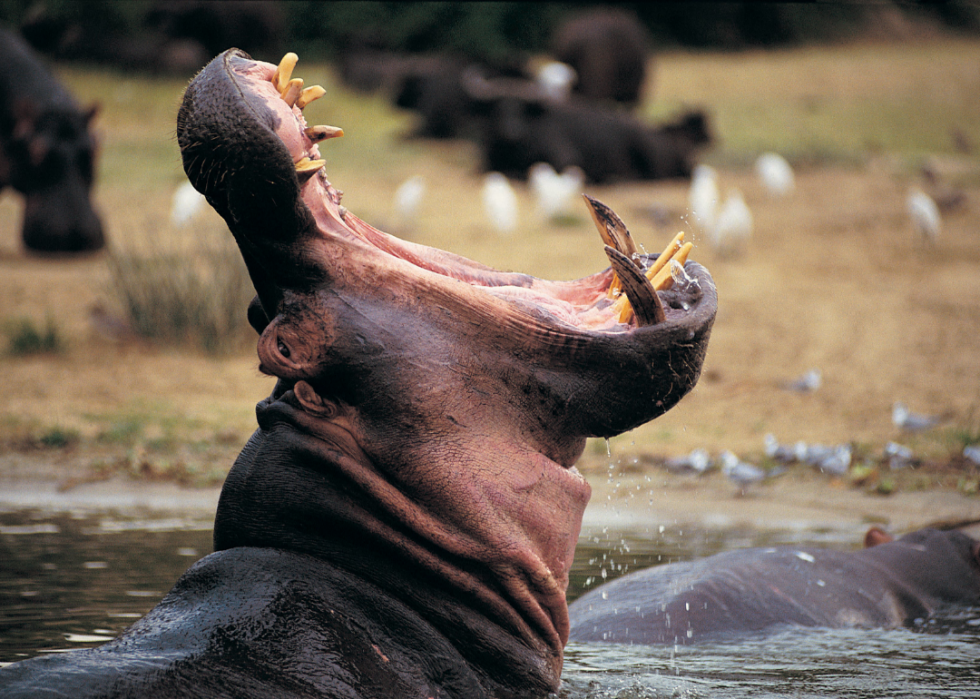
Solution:
<svg viewBox="0 0 980 699">
<path fill-rule="evenodd" d="M 363 453 L 316 435 L 291 396 L 258 406 L 260 427 L 221 494 L 215 549 L 330 561 L 417 609 L 481 674 L 512 675 L 515 692 L 555 691 L 589 497 L 581 476 L 540 455 L 524 455 L 520 478 L 454 460 L 410 465 L 427 472 L 412 480 L 428 492 L 403 492 Z"/>
</svg>

